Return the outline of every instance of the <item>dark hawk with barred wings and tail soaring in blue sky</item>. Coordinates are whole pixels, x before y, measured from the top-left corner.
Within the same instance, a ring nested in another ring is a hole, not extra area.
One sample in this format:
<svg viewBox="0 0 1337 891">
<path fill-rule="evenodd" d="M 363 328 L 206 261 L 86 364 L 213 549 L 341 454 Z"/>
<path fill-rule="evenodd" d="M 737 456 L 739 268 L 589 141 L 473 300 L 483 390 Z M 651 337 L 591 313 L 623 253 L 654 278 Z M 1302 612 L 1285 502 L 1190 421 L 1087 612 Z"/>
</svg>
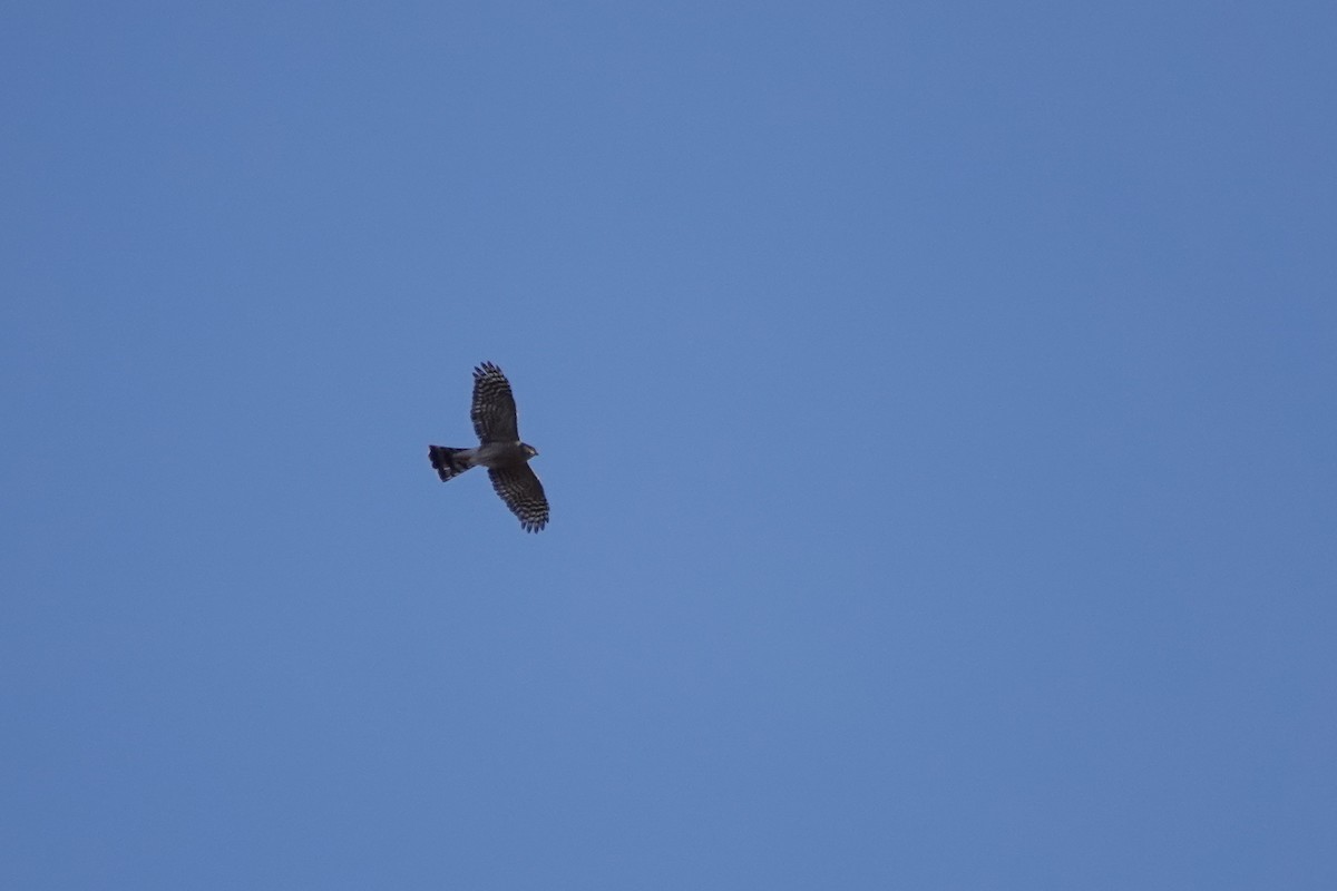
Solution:
<svg viewBox="0 0 1337 891">
<path fill-rule="evenodd" d="M 441 482 L 469 468 L 487 468 L 492 489 L 520 518 L 525 532 L 539 532 L 548 525 L 548 500 L 543 484 L 533 474 L 529 458 L 539 454 L 532 445 L 520 442 L 519 421 L 511 382 L 501 369 L 484 362 L 473 369 L 473 406 L 469 409 L 476 449 L 428 446 L 427 454 Z"/>
</svg>

